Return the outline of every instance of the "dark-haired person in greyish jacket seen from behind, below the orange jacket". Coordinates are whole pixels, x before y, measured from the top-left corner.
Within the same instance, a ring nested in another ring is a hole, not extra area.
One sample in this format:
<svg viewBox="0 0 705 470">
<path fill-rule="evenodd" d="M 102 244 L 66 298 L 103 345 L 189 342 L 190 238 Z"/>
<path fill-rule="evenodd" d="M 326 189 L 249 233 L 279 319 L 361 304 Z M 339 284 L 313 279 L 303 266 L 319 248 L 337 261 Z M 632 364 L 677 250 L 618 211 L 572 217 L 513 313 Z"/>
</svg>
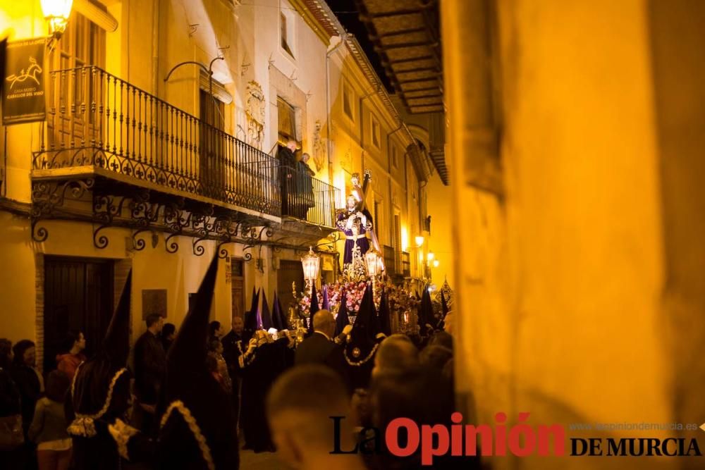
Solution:
<svg viewBox="0 0 705 470">
<path fill-rule="evenodd" d="M 71 462 L 71 437 L 63 402 L 70 382 L 61 371 L 47 377 L 47 396 L 37 401 L 29 438 L 37 444 L 39 470 L 66 470 Z"/>
</svg>

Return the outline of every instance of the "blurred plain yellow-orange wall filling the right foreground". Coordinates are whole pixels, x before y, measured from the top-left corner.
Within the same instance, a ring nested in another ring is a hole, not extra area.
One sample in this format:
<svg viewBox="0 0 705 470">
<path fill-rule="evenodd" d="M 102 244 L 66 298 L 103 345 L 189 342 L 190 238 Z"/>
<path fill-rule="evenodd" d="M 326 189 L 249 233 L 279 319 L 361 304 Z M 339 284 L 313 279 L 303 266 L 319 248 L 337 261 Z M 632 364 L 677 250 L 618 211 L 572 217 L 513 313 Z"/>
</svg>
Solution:
<svg viewBox="0 0 705 470">
<path fill-rule="evenodd" d="M 507 412 L 510 426 L 519 412 L 534 426 L 704 421 L 705 302 L 692 290 L 703 278 L 704 197 L 692 175 L 703 146 L 692 130 L 705 122 L 696 85 L 705 75 L 696 59 L 705 9 L 658 3 L 518 0 L 488 14 L 492 2 L 441 2 L 458 247 L 455 377 L 459 406 L 476 404 L 482 423 L 496 412 Z M 485 60 L 482 37 L 496 39 L 496 62 Z M 486 75 L 496 96 L 478 73 L 484 66 L 496 66 Z M 497 149 L 488 129 L 501 137 Z M 474 178 L 483 156 L 486 168 L 501 161 L 501 194 Z M 589 435 L 668 436 L 702 441 L 699 430 Z M 701 457 L 489 461 L 541 470 L 702 465 Z"/>
</svg>

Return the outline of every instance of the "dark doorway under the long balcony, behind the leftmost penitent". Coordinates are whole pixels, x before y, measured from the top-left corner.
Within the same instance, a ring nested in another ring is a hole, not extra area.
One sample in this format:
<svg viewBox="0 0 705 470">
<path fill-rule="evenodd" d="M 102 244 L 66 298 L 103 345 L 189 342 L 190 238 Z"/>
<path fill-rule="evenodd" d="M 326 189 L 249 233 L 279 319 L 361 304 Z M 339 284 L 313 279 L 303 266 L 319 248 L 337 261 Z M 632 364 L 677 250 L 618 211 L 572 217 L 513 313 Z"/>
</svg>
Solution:
<svg viewBox="0 0 705 470">
<path fill-rule="evenodd" d="M 44 258 L 44 371 L 56 369 L 56 354 L 66 352 L 66 336 L 86 338 L 86 357 L 98 352 L 113 315 L 114 261 L 46 256 Z"/>
</svg>

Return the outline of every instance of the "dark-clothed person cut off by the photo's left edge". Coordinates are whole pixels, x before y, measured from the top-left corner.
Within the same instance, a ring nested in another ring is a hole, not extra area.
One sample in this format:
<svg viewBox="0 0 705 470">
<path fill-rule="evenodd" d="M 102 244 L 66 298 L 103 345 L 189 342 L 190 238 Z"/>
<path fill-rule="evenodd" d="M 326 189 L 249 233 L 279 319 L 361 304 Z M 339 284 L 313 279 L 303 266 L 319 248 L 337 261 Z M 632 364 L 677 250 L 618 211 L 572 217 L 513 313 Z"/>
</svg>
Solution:
<svg viewBox="0 0 705 470">
<path fill-rule="evenodd" d="M 20 391 L 10 376 L 12 342 L 0 339 L 0 468 L 21 469 L 25 441 L 22 430 Z"/>
</svg>

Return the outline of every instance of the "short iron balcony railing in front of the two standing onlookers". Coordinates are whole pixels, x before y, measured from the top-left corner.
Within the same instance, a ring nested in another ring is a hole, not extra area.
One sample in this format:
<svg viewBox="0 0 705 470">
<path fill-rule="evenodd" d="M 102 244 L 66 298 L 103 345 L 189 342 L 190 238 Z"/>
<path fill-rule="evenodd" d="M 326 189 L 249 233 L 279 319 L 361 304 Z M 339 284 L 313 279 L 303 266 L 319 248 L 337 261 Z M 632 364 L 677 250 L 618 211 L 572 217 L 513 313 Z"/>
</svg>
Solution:
<svg viewBox="0 0 705 470">
<path fill-rule="evenodd" d="M 303 221 L 336 226 L 336 201 L 340 200 L 337 187 L 312 176 L 300 163 L 296 168 L 282 166 L 279 171 L 282 183 L 281 214 Z"/>
</svg>

